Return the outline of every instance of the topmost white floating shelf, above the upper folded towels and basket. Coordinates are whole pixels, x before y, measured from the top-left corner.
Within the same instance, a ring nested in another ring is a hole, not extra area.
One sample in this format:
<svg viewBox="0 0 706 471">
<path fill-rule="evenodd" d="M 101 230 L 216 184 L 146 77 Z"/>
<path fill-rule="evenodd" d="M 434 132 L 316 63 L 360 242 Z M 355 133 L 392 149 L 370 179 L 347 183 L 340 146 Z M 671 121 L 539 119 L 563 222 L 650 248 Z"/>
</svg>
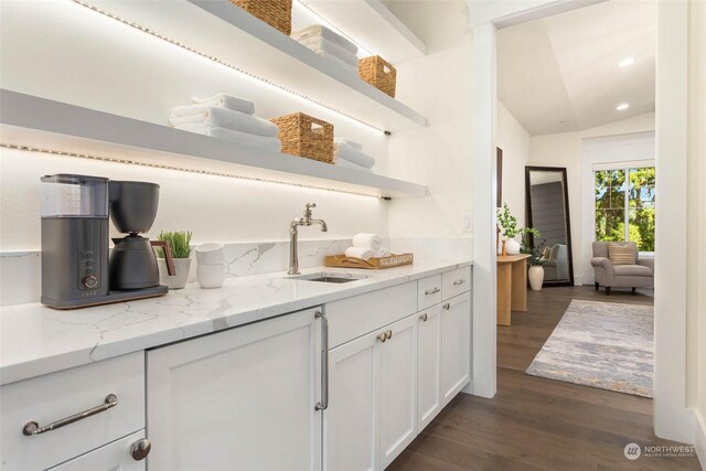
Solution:
<svg viewBox="0 0 706 471">
<path fill-rule="evenodd" d="M 424 42 L 381 0 L 303 0 L 303 3 L 393 65 L 422 57 L 427 52 Z"/>
</svg>

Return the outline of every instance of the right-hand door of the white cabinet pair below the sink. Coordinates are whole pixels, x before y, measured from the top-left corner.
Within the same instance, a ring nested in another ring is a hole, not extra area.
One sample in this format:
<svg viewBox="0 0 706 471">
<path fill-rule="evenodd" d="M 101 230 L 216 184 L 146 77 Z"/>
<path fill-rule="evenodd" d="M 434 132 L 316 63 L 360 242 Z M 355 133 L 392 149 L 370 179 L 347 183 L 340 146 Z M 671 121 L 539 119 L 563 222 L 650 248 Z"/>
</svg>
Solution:
<svg viewBox="0 0 706 471">
<path fill-rule="evenodd" d="M 417 436 L 417 317 L 389 325 L 379 350 L 379 452 L 387 468 Z"/>
</svg>

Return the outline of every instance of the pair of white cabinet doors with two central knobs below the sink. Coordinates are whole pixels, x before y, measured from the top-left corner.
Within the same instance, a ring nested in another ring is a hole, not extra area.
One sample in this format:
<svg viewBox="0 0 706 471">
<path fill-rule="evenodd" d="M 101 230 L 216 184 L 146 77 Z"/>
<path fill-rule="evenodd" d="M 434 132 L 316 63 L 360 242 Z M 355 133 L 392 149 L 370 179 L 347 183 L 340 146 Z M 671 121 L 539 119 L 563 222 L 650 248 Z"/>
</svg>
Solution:
<svg viewBox="0 0 706 471">
<path fill-rule="evenodd" d="M 417 435 L 417 319 L 331 350 L 324 469 L 381 470 Z"/>
</svg>

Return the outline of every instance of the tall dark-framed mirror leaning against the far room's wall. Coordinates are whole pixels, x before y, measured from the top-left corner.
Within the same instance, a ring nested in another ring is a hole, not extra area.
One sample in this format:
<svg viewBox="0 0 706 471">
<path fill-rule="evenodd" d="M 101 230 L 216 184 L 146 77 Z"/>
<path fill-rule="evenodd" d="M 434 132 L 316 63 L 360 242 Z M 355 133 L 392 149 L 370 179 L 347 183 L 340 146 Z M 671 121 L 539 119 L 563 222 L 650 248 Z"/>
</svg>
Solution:
<svg viewBox="0 0 706 471">
<path fill-rule="evenodd" d="M 527 226 L 541 234 L 530 244 L 542 255 L 544 285 L 574 285 L 566 168 L 525 167 L 525 191 Z"/>
</svg>

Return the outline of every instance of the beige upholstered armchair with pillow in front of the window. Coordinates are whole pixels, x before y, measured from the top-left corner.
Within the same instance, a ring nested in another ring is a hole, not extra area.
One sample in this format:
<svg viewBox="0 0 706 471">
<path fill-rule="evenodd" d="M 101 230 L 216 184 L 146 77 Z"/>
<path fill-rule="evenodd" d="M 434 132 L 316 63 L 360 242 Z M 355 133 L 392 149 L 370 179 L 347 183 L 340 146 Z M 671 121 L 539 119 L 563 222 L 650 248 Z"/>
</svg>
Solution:
<svg viewBox="0 0 706 471">
<path fill-rule="evenodd" d="M 608 244 L 614 244 L 612 259 Z M 654 288 L 654 259 L 640 258 L 633 242 L 595 242 L 591 266 L 596 290 L 603 286 L 606 295 L 611 288 Z"/>
</svg>

